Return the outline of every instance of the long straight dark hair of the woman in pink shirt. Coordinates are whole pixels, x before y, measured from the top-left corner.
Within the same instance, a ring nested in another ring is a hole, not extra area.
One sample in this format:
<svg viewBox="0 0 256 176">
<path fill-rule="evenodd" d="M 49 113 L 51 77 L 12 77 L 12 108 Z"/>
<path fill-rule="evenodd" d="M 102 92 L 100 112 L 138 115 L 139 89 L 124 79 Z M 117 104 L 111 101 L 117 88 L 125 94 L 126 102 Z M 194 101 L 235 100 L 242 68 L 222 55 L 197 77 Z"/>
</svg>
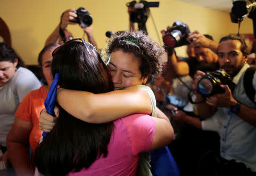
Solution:
<svg viewBox="0 0 256 176">
<path fill-rule="evenodd" d="M 67 42 L 57 48 L 52 74 L 60 74 L 64 89 L 106 93 L 113 90 L 108 69 L 100 55 L 80 42 Z M 100 101 L 100 100 L 99 100 Z M 88 168 L 101 155 L 108 155 L 113 122 L 90 124 L 68 114 L 60 107 L 55 127 L 35 151 L 35 164 L 43 175 L 67 175 Z"/>
</svg>

